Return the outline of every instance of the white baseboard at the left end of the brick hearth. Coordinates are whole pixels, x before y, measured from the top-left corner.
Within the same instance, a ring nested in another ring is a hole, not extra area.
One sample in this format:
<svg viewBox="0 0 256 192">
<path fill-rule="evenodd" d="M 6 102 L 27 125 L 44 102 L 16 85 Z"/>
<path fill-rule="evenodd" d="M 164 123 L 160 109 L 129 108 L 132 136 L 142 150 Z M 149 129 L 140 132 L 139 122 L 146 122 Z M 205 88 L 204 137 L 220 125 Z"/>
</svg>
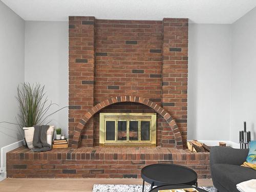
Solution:
<svg viewBox="0 0 256 192">
<path fill-rule="evenodd" d="M 18 148 L 20 146 L 24 145 L 24 140 L 17 141 L 15 143 L 9 144 L 7 146 L 4 146 L 1 148 L 1 164 L 0 166 L 5 168 L 6 170 L 6 153 L 15 150 L 15 148 Z M 6 171 L 5 173 L 0 173 L 0 182 L 6 179 Z"/>
</svg>

